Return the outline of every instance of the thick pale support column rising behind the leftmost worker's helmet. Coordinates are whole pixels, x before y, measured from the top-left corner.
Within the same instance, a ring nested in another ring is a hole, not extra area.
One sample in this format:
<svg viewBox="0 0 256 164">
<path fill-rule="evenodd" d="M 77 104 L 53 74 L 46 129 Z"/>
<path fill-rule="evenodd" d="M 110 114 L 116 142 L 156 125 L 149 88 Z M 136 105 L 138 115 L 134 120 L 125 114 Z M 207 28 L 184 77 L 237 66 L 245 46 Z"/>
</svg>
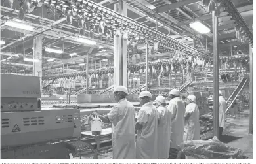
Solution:
<svg viewBox="0 0 256 164">
<path fill-rule="evenodd" d="M 122 0 L 114 5 L 114 10 L 127 16 L 127 7 Z M 127 80 L 127 41 L 122 37 L 114 36 L 114 86 L 128 86 Z"/>
</svg>

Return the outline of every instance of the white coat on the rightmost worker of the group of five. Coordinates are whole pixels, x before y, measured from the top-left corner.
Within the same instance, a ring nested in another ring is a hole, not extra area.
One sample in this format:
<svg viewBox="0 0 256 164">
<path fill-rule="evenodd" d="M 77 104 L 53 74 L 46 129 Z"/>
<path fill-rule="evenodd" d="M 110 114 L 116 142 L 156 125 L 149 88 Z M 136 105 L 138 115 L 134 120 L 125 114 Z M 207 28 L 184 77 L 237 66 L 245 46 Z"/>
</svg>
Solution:
<svg viewBox="0 0 256 164">
<path fill-rule="evenodd" d="M 186 112 L 190 114 L 190 117 L 185 121 L 183 141 L 200 140 L 198 105 L 196 105 L 196 103 L 189 103 L 186 106 Z"/>
</svg>

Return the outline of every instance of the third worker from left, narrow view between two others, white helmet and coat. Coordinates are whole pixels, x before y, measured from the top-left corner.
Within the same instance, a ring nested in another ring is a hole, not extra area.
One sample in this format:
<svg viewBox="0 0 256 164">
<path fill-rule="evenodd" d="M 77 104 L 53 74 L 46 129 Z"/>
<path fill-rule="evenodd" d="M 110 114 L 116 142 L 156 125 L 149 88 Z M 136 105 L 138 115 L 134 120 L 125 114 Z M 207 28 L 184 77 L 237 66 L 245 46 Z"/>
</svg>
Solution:
<svg viewBox="0 0 256 164">
<path fill-rule="evenodd" d="M 168 159 L 171 137 L 171 112 L 166 108 L 165 97 L 156 97 L 158 110 L 158 159 Z"/>
</svg>

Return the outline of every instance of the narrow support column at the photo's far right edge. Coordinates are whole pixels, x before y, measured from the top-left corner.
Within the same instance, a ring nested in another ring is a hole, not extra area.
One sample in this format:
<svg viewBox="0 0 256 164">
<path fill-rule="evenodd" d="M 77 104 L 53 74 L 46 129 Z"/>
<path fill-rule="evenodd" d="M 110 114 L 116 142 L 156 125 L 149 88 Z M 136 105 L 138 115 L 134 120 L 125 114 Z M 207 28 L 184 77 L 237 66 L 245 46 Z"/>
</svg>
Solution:
<svg viewBox="0 0 256 164">
<path fill-rule="evenodd" d="M 253 30 L 253 22 L 250 24 Z M 249 76 L 249 88 L 250 88 L 250 115 L 249 115 L 249 133 L 253 134 L 253 49 L 249 46 L 249 56 L 250 56 L 250 76 Z"/>
</svg>

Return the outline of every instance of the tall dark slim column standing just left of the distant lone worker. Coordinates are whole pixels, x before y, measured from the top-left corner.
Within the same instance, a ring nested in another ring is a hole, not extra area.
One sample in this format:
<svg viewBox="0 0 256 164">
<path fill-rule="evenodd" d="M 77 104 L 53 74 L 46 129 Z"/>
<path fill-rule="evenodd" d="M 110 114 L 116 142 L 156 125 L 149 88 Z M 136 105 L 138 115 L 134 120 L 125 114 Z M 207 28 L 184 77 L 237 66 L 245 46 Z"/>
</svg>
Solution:
<svg viewBox="0 0 256 164">
<path fill-rule="evenodd" d="M 218 18 L 213 16 L 213 135 L 219 139 L 219 52 L 218 52 Z"/>
</svg>

